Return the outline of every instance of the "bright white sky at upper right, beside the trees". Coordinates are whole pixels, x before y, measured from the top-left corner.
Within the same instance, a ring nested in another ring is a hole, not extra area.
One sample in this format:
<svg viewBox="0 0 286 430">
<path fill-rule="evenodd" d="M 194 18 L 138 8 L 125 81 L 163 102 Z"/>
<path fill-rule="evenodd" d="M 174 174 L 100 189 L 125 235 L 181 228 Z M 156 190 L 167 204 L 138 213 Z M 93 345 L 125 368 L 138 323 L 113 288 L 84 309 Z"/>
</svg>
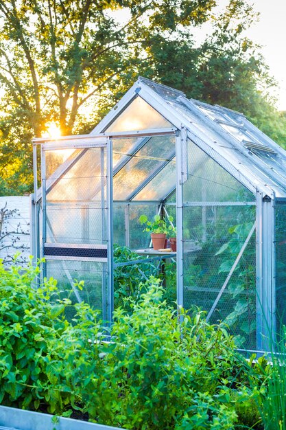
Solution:
<svg viewBox="0 0 286 430">
<path fill-rule="evenodd" d="M 286 0 L 247 0 L 260 12 L 246 35 L 261 45 L 261 52 L 270 67 L 270 74 L 278 81 L 277 107 L 286 111 Z M 221 6 L 226 0 L 218 0 Z"/>
</svg>

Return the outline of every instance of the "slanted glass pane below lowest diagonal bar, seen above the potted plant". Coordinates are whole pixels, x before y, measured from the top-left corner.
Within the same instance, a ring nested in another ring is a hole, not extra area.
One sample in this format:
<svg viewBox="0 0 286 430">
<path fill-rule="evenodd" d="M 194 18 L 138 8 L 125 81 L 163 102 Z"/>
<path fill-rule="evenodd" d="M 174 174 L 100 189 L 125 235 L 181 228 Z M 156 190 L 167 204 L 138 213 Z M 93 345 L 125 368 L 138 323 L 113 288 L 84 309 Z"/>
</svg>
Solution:
<svg viewBox="0 0 286 430">
<path fill-rule="evenodd" d="M 161 170 L 139 194 L 134 201 L 161 201 L 167 194 L 176 188 L 176 159 Z"/>
</svg>

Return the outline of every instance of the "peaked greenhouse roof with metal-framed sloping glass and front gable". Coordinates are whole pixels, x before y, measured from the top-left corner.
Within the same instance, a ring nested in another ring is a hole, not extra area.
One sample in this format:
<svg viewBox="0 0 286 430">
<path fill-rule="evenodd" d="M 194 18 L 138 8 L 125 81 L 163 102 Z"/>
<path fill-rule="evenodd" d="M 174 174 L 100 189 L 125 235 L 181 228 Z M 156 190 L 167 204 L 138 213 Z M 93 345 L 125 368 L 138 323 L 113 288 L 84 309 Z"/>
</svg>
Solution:
<svg viewBox="0 0 286 430">
<path fill-rule="evenodd" d="M 91 135 L 124 131 L 119 116 L 133 115 L 145 100 L 159 115 L 142 128 L 175 126 L 187 128 L 189 138 L 247 186 L 252 192 L 286 196 L 286 152 L 259 131 L 243 113 L 187 99 L 182 91 L 139 78 L 120 102 L 94 128 Z M 124 111 L 124 113 L 123 113 Z M 148 119 L 147 111 L 145 113 Z M 149 118 L 151 115 L 149 115 Z M 156 122 L 156 124 L 154 124 Z M 136 124 L 136 118 L 134 118 Z M 135 130 L 135 128 L 134 128 Z"/>
</svg>

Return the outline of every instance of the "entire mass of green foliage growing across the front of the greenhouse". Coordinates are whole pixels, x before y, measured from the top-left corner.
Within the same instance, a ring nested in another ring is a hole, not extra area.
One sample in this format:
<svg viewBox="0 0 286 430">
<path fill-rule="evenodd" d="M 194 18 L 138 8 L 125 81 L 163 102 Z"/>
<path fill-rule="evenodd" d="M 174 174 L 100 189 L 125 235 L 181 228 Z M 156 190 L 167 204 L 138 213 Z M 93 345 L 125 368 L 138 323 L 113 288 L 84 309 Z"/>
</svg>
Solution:
<svg viewBox="0 0 286 430">
<path fill-rule="evenodd" d="M 1 403 L 128 429 L 235 429 L 254 408 L 250 365 L 224 324 L 162 300 L 156 282 L 129 315 L 117 308 L 111 342 L 97 311 L 57 299 L 56 281 L 36 290 L 39 270 L 0 267 Z M 260 376 L 252 377 L 259 384 Z M 242 414 L 241 414 L 242 415 Z"/>
</svg>

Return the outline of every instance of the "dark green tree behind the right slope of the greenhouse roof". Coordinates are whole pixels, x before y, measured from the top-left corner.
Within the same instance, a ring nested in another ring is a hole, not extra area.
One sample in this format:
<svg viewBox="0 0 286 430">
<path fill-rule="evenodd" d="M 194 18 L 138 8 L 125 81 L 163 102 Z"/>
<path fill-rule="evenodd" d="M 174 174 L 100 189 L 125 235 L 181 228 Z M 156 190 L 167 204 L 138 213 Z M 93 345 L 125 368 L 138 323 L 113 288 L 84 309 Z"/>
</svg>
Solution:
<svg viewBox="0 0 286 430">
<path fill-rule="evenodd" d="M 242 18 L 243 17 L 243 18 Z M 210 104 L 242 112 L 278 144 L 286 146 L 286 115 L 275 107 L 270 76 L 259 46 L 243 36 L 257 19 L 248 3 L 230 1 L 214 21 L 214 29 L 197 49 L 191 41 L 164 41 L 152 45 L 160 81 Z M 168 67 L 168 59 L 172 66 Z"/>
</svg>

